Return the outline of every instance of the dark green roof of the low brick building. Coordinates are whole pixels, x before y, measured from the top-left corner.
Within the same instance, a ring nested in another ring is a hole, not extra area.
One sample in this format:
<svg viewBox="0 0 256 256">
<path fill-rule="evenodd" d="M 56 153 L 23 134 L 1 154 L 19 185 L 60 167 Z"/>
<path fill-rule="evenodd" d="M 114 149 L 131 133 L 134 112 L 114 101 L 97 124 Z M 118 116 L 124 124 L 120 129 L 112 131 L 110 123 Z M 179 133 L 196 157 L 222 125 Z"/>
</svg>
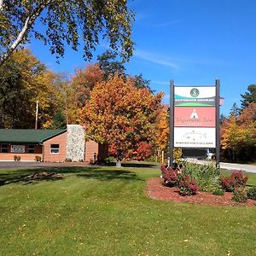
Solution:
<svg viewBox="0 0 256 256">
<path fill-rule="evenodd" d="M 0 129 L 0 143 L 44 143 L 65 130 Z"/>
</svg>

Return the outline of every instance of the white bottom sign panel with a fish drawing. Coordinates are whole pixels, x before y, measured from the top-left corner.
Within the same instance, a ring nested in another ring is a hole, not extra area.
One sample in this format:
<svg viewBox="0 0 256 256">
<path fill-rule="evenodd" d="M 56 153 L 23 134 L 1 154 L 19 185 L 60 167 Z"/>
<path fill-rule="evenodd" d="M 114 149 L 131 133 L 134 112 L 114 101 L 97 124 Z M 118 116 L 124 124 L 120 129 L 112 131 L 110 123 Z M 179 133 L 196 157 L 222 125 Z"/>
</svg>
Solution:
<svg viewBox="0 0 256 256">
<path fill-rule="evenodd" d="M 216 148 L 215 128 L 174 127 L 174 147 Z"/>
</svg>

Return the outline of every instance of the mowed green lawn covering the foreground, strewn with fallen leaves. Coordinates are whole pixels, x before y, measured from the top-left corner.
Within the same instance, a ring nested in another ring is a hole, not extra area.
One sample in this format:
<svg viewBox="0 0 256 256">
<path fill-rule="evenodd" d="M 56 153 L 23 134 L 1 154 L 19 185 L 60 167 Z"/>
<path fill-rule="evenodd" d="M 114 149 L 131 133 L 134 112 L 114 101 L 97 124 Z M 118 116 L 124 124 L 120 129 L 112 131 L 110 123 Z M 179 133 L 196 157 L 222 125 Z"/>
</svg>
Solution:
<svg viewBox="0 0 256 256">
<path fill-rule="evenodd" d="M 256 255 L 256 207 L 152 200 L 155 168 L 59 168 L 48 171 L 60 180 L 26 180 L 42 171 L 0 170 L 0 255 Z"/>
</svg>

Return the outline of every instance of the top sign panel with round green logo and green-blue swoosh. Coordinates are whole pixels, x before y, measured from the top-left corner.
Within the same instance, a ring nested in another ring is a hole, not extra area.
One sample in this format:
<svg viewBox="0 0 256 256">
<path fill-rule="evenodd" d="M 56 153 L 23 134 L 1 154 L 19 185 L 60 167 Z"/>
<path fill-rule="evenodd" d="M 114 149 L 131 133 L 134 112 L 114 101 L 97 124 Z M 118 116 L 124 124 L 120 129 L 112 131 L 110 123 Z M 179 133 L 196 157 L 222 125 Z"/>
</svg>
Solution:
<svg viewBox="0 0 256 256">
<path fill-rule="evenodd" d="M 215 87 L 175 87 L 174 106 L 209 107 L 216 105 Z"/>
</svg>

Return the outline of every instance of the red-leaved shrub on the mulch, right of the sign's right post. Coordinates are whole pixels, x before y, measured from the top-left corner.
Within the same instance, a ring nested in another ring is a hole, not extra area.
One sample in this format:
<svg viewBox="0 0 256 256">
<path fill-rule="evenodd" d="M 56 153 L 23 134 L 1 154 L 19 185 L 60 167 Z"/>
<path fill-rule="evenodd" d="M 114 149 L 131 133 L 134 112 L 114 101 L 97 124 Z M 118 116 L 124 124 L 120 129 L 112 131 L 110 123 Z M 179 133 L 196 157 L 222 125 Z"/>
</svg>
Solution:
<svg viewBox="0 0 256 256">
<path fill-rule="evenodd" d="M 230 177 L 222 176 L 219 180 L 225 191 L 232 192 L 237 188 L 245 188 L 248 177 L 243 177 L 241 171 L 235 171 Z"/>
</svg>

